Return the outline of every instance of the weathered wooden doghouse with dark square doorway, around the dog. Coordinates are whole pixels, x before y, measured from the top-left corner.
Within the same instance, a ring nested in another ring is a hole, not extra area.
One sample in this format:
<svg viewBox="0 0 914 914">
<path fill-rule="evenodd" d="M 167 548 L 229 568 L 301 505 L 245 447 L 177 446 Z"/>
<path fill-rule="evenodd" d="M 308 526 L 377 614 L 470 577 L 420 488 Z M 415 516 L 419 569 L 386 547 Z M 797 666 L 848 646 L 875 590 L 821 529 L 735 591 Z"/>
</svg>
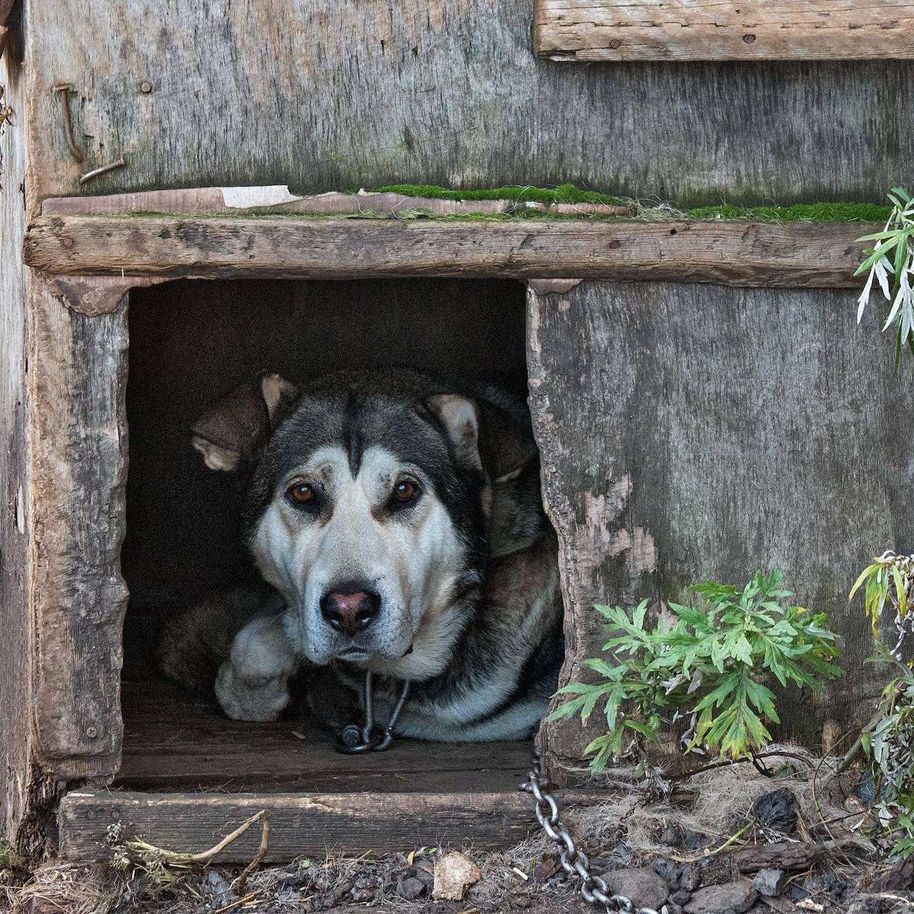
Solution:
<svg viewBox="0 0 914 914">
<path fill-rule="evenodd" d="M 854 239 L 870 226 L 460 220 L 436 201 L 304 195 L 407 176 L 875 200 L 914 158 L 897 116 L 914 105 L 908 63 L 578 69 L 537 61 L 521 2 L 10 7 L 0 753 L 16 846 L 95 859 L 121 824 L 199 848 L 260 808 L 277 860 L 527 833 L 526 746 L 347 758 L 155 679 L 154 611 L 238 573 L 233 496 L 186 428 L 263 367 L 392 359 L 526 388 L 560 542 L 564 681 L 599 650 L 593 602 L 780 567 L 833 613 L 853 673 L 785 707 L 783 734 L 814 743 L 864 713 L 877 673 L 846 592 L 872 553 L 914 547 L 909 375 L 893 376 L 876 315 L 855 325 Z M 417 208 L 432 218 L 402 218 Z M 378 213 L 391 218 L 349 218 Z M 539 739 L 572 782 L 590 734 L 564 722 Z"/>
</svg>

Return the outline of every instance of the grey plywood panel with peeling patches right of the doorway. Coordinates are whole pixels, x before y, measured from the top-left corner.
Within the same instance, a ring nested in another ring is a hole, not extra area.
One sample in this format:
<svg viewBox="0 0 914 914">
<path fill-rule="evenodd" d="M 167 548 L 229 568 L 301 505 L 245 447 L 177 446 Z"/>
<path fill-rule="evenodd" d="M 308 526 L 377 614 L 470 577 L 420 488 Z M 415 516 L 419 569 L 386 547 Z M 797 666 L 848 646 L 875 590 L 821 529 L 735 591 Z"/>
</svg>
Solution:
<svg viewBox="0 0 914 914">
<path fill-rule="evenodd" d="M 605 641 L 594 602 L 656 607 L 701 579 L 781 569 L 802 605 L 830 613 L 847 674 L 782 699 L 780 735 L 814 745 L 825 719 L 844 731 L 866 718 L 884 677 L 864 664 L 872 639 L 847 593 L 873 555 L 914 548 L 914 388 L 892 374 L 878 315 L 856 326 L 854 299 L 654 282 L 528 292 L 564 682 Z M 547 724 L 550 759 L 573 767 L 588 732 Z"/>
</svg>

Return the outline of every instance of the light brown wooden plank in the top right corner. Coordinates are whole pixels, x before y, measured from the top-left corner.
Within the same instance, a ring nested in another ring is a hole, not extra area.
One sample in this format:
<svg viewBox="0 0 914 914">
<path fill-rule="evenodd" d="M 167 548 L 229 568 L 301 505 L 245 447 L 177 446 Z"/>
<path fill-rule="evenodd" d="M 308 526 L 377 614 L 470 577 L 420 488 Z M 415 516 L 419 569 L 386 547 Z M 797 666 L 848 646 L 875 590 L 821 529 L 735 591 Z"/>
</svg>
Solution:
<svg viewBox="0 0 914 914">
<path fill-rule="evenodd" d="M 553 60 L 866 60 L 914 57 L 910 0 L 537 0 Z"/>
</svg>

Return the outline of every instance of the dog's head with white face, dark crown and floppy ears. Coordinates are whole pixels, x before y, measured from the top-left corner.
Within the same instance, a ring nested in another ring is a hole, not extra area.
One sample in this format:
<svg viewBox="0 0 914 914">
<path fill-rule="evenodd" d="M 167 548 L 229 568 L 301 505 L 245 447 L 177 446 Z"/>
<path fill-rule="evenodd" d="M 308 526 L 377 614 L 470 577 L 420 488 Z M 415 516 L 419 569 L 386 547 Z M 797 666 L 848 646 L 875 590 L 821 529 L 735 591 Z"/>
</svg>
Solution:
<svg viewBox="0 0 914 914">
<path fill-rule="evenodd" d="M 309 660 L 413 677 L 446 664 L 490 548 L 484 410 L 420 376 L 299 391 L 271 375 L 197 422 L 207 466 L 247 472 L 250 550 Z"/>
</svg>

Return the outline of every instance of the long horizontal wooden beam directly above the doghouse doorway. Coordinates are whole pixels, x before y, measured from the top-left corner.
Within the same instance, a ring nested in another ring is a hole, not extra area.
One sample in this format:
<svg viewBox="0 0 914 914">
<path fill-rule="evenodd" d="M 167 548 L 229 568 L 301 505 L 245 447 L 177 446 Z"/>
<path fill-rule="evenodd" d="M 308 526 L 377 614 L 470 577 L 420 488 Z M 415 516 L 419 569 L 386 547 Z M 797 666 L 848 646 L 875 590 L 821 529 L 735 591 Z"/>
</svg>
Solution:
<svg viewBox="0 0 914 914">
<path fill-rule="evenodd" d="M 26 262 L 63 274 L 477 276 L 853 286 L 867 224 L 44 217 Z"/>
</svg>

